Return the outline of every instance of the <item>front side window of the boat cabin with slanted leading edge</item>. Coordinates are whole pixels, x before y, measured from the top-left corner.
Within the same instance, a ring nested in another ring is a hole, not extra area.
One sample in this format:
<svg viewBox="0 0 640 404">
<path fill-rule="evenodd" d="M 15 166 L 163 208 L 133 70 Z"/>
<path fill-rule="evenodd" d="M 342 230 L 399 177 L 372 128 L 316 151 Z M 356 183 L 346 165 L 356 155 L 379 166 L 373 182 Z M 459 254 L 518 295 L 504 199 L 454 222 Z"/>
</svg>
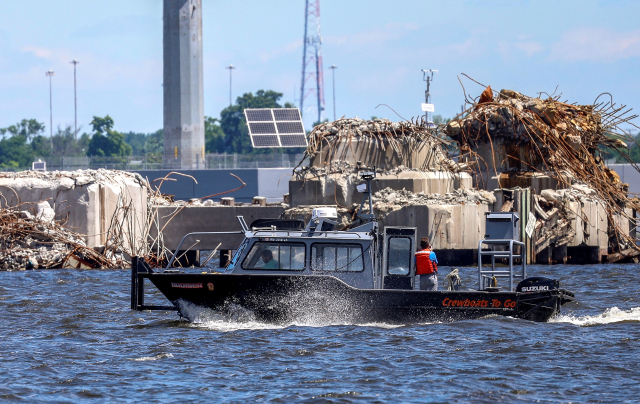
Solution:
<svg viewBox="0 0 640 404">
<path fill-rule="evenodd" d="M 251 247 L 242 262 L 243 269 L 272 271 L 302 271 L 304 269 L 304 243 L 268 243 L 259 241 Z"/>
</svg>

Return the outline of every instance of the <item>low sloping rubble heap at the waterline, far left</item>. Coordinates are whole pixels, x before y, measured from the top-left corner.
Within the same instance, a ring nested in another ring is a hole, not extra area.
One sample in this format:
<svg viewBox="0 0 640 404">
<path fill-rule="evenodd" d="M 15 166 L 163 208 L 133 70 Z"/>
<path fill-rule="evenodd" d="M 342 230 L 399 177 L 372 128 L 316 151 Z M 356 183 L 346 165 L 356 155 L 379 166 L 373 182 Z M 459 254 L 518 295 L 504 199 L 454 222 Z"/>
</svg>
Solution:
<svg viewBox="0 0 640 404">
<path fill-rule="evenodd" d="M 84 237 L 53 220 L 48 202 L 35 212 L 0 209 L 0 269 L 123 268 L 121 260 L 109 259 L 86 246 Z"/>
</svg>

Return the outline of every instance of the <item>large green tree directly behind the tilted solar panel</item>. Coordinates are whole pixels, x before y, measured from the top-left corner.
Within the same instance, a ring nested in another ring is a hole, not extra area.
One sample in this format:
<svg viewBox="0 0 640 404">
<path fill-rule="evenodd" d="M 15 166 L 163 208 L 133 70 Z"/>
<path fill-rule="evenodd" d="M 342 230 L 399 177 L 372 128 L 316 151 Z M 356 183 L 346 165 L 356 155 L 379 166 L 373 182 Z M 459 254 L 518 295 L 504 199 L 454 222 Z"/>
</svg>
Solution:
<svg viewBox="0 0 640 404">
<path fill-rule="evenodd" d="M 273 90 L 258 90 L 255 95 L 245 93 L 236 99 L 236 103 L 220 112 L 220 128 L 224 133 L 224 151 L 239 154 L 269 154 L 273 149 L 254 149 L 249 138 L 249 129 L 244 118 L 245 108 L 282 108 L 278 103 L 282 93 Z M 293 104 L 285 103 L 285 108 Z"/>
</svg>

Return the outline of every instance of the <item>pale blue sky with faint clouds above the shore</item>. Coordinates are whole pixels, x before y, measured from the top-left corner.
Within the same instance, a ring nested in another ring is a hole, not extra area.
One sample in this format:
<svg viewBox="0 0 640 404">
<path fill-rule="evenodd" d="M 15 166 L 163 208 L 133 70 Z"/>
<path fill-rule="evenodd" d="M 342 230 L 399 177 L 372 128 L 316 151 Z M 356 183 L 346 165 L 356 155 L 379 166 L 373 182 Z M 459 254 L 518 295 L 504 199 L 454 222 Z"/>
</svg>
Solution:
<svg viewBox="0 0 640 404">
<path fill-rule="evenodd" d="M 304 0 L 203 1 L 204 110 L 260 89 L 299 105 Z M 321 0 L 325 117 L 397 121 L 421 114 L 422 69 L 437 69 L 435 114 L 453 117 L 483 88 L 593 103 L 603 92 L 640 111 L 638 1 Z M 109 114 L 121 132 L 162 128 L 161 0 L 0 0 L 0 128 L 35 118 L 73 125 Z M 557 88 L 557 90 L 556 90 Z M 381 105 L 381 104 L 385 104 Z M 388 106 L 388 107 L 387 107 Z M 317 113 L 305 100 L 308 127 Z M 395 111 L 395 112 L 394 112 Z M 637 122 L 636 122 L 637 123 Z"/>
</svg>

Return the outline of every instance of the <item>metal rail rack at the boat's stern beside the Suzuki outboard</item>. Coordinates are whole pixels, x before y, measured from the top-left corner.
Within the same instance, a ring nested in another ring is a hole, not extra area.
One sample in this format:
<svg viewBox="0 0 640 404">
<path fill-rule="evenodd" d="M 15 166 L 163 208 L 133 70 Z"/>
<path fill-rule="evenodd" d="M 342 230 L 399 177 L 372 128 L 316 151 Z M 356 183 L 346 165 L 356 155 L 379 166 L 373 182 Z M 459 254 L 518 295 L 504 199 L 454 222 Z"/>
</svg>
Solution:
<svg viewBox="0 0 640 404">
<path fill-rule="evenodd" d="M 483 244 L 491 246 L 491 250 L 482 250 Z M 514 254 L 514 247 L 520 246 L 520 254 Z M 506 247 L 505 250 L 495 250 L 494 247 Z M 486 283 L 489 283 L 493 277 L 509 278 L 509 290 L 514 290 L 514 279 L 525 279 L 527 277 L 527 260 L 525 256 L 525 244 L 516 240 L 481 240 L 478 243 L 478 290 L 486 289 Z M 491 257 L 491 269 L 482 268 L 482 257 Z M 496 258 L 507 258 L 509 261 L 508 269 L 497 269 Z M 514 270 L 513 259 L 520 258 L 522 266 L 519 270 Z"/>
</svg>

